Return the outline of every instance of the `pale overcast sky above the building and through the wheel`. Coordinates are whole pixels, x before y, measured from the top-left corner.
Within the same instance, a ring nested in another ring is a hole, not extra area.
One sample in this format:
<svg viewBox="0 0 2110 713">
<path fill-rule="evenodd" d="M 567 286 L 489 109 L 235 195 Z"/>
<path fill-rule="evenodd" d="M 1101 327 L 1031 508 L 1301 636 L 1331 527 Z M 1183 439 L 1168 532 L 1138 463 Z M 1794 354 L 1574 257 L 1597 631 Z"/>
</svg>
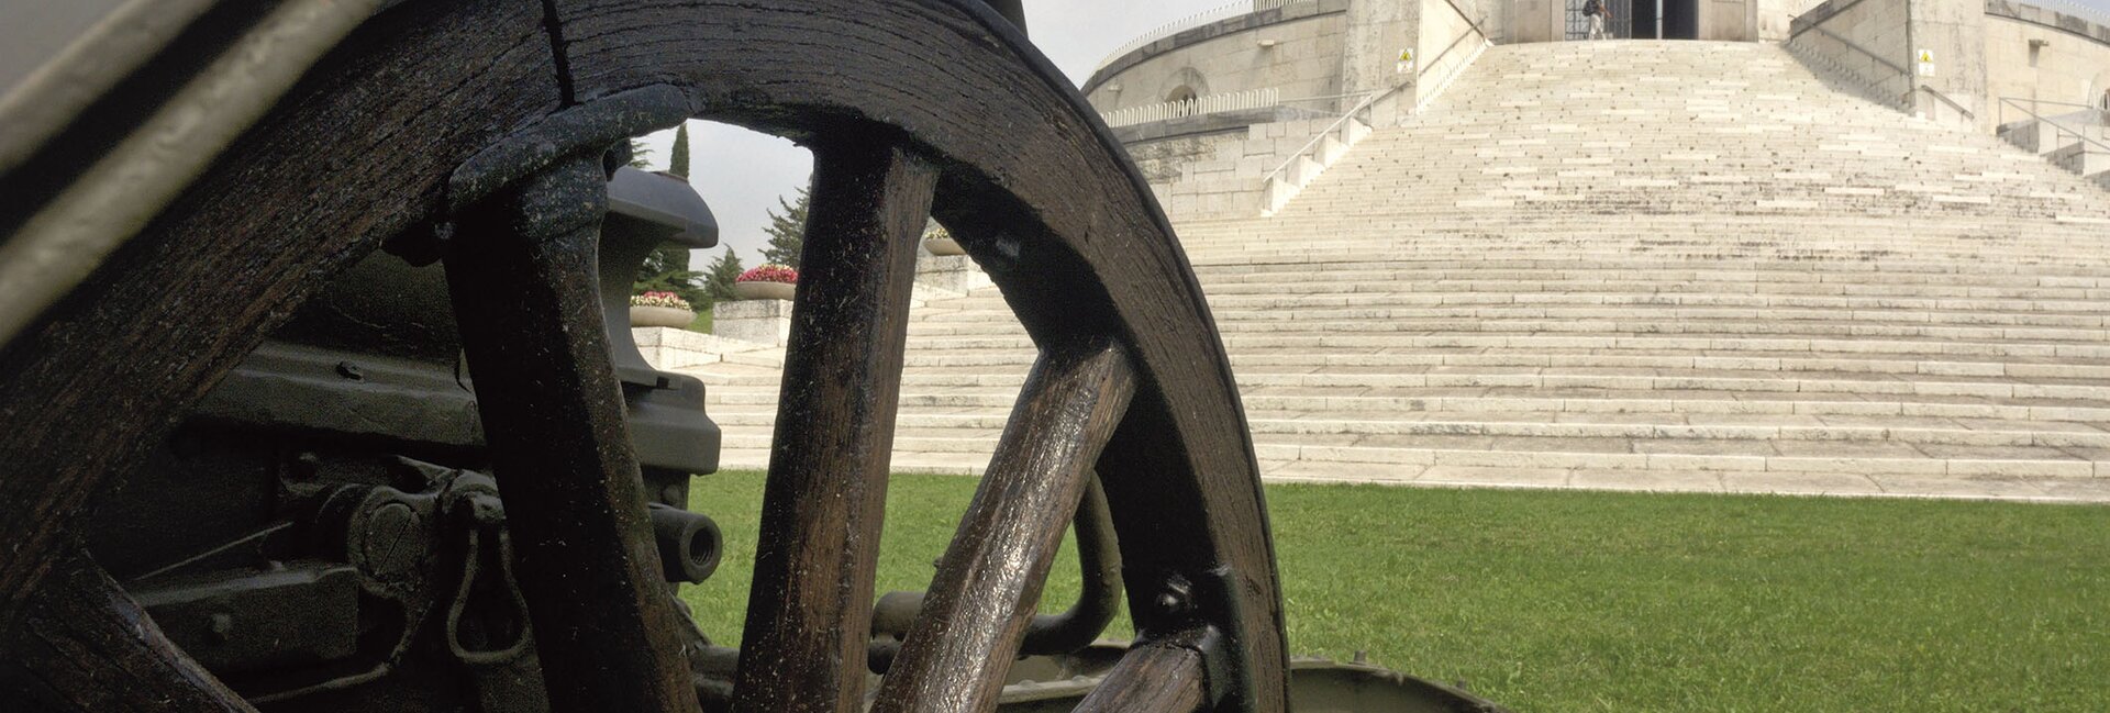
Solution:
<svg viewBox="0 0 2110 713">
<path fill-rule="evenodd" d="M 1158 25 L 1209 11 L 1228 0 L 1025 0 L 1025 25 L 1034 44 L 1055 61 L 1070 82 L 1082 82 L 1099 59 L 1123 42 Z M 703 270 L 726 247 L 741 264 L 762 264 L 768 211 L 779 196 L 793 196 L 812 175 L 812 156 L 791 141 L 711 122 L 690 122 L 690 184 L 717 213 L 720 247 L 694 251 L 692 270 Z M 646 137 L 648 160 L 667 167 L 673 131 Z"/>
</svg>

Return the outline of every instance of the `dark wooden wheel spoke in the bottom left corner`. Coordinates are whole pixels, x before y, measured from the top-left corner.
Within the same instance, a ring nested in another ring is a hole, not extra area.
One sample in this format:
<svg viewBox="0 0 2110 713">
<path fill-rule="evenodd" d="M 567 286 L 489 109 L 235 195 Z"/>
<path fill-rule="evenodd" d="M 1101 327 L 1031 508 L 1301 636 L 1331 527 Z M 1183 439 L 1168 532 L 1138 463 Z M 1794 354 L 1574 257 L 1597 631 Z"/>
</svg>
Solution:
<svg viewBox="0 0 2110 713">
<path fill-rule="evenodd" d="M 0 652 L 0 681 L 11 683 L 0 690 L 72 711 L 255 711 L 78 548 L 59 555 Z"/>
</svg>

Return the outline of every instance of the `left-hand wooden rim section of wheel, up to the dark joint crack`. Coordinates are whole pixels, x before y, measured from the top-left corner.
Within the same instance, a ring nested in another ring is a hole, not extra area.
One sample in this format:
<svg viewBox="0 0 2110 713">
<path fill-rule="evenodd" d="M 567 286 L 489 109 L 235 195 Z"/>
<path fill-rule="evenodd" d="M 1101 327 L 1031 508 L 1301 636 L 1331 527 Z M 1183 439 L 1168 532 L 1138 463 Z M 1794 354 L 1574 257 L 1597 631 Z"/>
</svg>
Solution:
<svg viewBox="0 0 2110 713">
<path fill-rule="evenodd" d="M 559 105 L 540 4 L 416 2 L 361 27 L 184 198 L 0 350 L 0 616 L 72 515 L 272 325 L 424 219 L 471 152 Z"/>
</svg>

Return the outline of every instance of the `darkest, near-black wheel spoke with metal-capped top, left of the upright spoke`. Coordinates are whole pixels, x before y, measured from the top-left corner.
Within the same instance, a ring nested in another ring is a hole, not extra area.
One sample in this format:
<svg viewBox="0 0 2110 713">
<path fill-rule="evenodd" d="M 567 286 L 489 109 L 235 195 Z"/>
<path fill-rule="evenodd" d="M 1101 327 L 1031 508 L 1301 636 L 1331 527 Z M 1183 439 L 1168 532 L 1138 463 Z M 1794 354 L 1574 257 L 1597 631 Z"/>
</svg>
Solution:
<svg viewBox="0 0 2110 713">
<path fill-rule="evenodd" d="M 447 255 L 551 711 L 696 711 L 608 361 L 599 156 L 464 215 Z"/>
</svg>

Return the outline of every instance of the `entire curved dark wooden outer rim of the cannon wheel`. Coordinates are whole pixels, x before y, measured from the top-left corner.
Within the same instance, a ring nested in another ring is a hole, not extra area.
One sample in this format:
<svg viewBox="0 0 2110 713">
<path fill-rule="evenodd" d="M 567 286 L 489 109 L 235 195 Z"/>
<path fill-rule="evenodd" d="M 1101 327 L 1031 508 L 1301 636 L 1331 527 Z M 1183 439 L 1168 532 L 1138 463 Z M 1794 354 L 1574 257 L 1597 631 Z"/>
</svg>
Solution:
<svg viewBox="0 0 2110 713">
<path fill-rule="evenodd" d="M 21 496 L 0 536 L 30 544 L 0 559 L 8 612 L 55 557 L 53 523 L 87 489 L 156 443 L 316 276 L 435 215 L 471 152 L 559 108 L 671 84 L 698 118 L 814 148 L 884 139 L 918 154 L 939 171 L 933 215 L 1036 344 L 1110 338 L 1129 350 L 1144 388 L 1099 470 L 1133 542 L 1123 546 L 1131 601 L 1190 582 L 1222 650 L 1236 652 L 1222 662 L 1236 681 L 1226 705 L 1283 709 L 1258 464 L 1201 287 L 1089 105 L 1021 46 L 966 0 L 433 2 L 380 17 L 95 285 L 0 354 L 0 373 L 17 375 L 0 384 L 0 418 L 21 424 L 0 437 L 17 464 L 0 494 Z M 228 245 L 230 234 L 245 240 Z M 158 354 L 139 359 L 139 344 Z M 38 420 L 34 407 L 65 418 Z M 82 424 L 106 439 L 82 443 Z M 1169 627 L 1135 614 L 1146 637 Z"/>
</svg>

